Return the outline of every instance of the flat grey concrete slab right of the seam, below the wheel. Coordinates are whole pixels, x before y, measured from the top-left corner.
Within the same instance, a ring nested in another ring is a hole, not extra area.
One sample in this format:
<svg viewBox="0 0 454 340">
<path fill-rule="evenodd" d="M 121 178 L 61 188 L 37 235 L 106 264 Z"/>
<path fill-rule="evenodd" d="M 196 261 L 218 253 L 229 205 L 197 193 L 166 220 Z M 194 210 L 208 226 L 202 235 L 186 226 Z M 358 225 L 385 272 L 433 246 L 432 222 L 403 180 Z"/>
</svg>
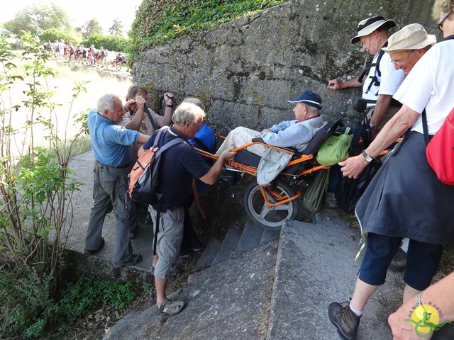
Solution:
<svg viewBox="0 0 454 340">
<path fill-rule="evenodd" d="M 328 319 L 331 302 L 348 301 L 360 261 L 359 228 L 350 229 L 335 210 L 323 210 L 317 224 L 288 221 L 282 227 L 267 340 L 339 339 Z M 402 274 L 387 275 L 367 303 L 356 339 L 392 339 L 387 316 L 402 302 Z"/>
</svg>

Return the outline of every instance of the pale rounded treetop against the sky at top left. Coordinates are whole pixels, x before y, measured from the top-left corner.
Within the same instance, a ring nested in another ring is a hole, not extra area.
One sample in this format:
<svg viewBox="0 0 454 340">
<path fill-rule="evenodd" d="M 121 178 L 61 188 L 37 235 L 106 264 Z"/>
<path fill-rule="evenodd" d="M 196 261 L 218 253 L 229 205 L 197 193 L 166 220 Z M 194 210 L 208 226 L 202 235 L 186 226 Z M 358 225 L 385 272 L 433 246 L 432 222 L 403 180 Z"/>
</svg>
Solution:
<svg viewBox="0 0 454 340">
<path fill-rule="evenodd" d="M 70 32 L 70 17 L 61 6 L 38 1 L 18 11 L 14 18 L 5 23 L 5 28 L 17 35 L 24 32 L 40 34 L 49 28 Z"/>
</svg>

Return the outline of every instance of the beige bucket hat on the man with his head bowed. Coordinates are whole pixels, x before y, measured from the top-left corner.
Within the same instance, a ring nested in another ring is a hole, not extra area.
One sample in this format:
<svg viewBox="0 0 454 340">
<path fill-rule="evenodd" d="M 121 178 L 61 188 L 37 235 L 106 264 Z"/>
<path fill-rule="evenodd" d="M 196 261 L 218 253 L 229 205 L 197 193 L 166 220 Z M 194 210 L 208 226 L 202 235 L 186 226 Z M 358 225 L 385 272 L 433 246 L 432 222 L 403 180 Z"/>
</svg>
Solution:
<svg viewBox="0 0 454 340">
<path fill-rule="evenodd" d="M 418 50 L 436 42 L 435 35 L 427 34 L 419 23 L 411 23 L 391 35 L 388 39 L 388 46 L 383 47 L 382 50 L 392 54 L 406 50 Z"/>
</svg>

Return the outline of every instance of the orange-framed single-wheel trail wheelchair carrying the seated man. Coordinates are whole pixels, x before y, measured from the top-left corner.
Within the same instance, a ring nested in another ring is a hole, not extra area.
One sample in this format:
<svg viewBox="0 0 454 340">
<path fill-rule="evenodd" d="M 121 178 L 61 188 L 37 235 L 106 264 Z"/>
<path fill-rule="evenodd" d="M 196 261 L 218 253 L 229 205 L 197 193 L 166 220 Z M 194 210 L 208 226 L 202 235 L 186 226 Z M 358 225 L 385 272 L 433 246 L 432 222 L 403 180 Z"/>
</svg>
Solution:
<svg viewBox="0 0 454 340">
<path fill-rule="evenodd" d="M 299 213 L 297 198 L 301 196 L 301 191 L 298 188 L 303 186 L 304 183 L 308 183 L 314 172 L 330 168 L 330 166 L 317 163 L 316 153 L 329 136 L 337 133 L 336 129 L 340 125 L 341 120 L 328 122 L 316 132 L 316 135 L 301 153 L 292 148 L 267 145 L 261 138 L 254 138 L 253 142 L 233 149 L 233 152 L 237 152 L 236 157 L 234 160 L 226 162 L 226 165 L 233 171 L 240 171 L 252 176 L 257 176 L 260 157 L 248 152 L 247 147 L 260 144 L 292 154 L 289 164 L 269 185 L 260 186 L 257 181 L 252 181 L 246 188 L 243 203 L 252 220 L 264 229 L 279 230 L 284 220 L 292 220 L 297 217 Z M 197 149 L 197 151 L 202 156 L 211 159 L 218 158 L 218 156 L 201 149 Z"/>
</svg>

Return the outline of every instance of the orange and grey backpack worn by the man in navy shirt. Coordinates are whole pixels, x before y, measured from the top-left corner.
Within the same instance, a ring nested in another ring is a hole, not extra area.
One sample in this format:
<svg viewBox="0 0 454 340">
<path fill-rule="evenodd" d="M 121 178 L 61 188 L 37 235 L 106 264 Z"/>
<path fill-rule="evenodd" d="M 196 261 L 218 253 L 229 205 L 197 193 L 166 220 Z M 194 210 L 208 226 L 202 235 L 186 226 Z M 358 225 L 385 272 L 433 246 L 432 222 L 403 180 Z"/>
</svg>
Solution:
<svg viewBox="0 0 454 340">
<path fill-rule="evenodd" d="M 162 194 L 157 193 L 157 185 L 160 161 L 162 153 L 171 147 L 181 144 L 184 140 L 181 137 L 174 138 L 166 144 L 158 147 L 162 132 L 167 132 L 168 127 L 157 130 L 153 147 L 144 150 L 139 159 L 135 162 L 131 174 L 129 174 L 129 197 L 143 204 L 158 203 Z"/>
</svg>

